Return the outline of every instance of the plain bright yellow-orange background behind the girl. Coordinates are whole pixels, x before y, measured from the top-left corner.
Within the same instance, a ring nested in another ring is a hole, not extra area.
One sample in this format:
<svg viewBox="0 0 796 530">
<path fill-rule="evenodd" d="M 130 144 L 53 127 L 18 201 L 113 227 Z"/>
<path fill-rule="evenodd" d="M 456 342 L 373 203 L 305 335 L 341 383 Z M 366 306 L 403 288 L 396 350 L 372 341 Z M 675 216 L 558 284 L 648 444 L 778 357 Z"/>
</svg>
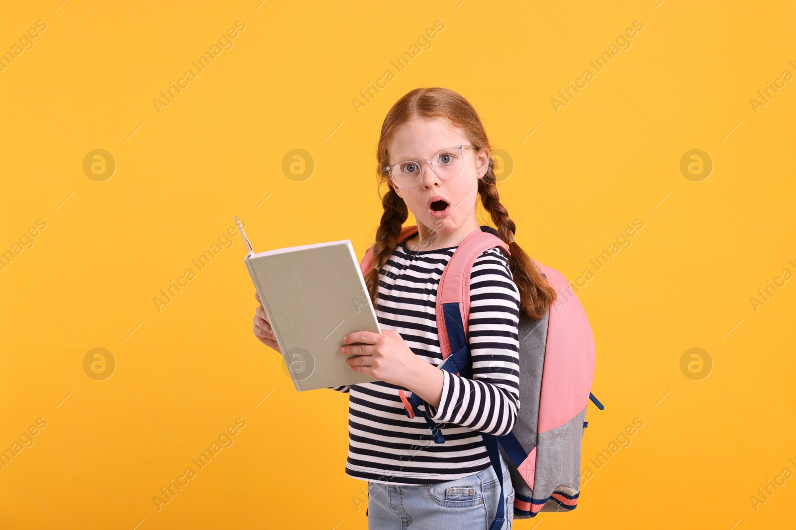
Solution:
<svg viewBox="0 0 796 530">
<path fill-rule="evenodd" d="M 296 393 L 254 338 L 240 237 L 161 311 L 152 299 L 233 215 L 256 251 L 350 239 L 361 256 L 380 219 L 381 121 L 419 86 L 478 109 L 515 164 L 499 189 L 518 242 L 568 279 L 644 222 L 578 293 L 606 405 L 589 405 L 583 467 L 634 418 L 644 427 L 574 512 L 516 528 L 792 524 L 796 477 L 750 501 L 796 473 L 796 280 L 750 302 L 796 273 L 796 81 L 750 103 L 796 74 L 792 2 L 4 2 L 0 52 L 39 20 L 0 72 L 0 251 L 47 225 L 0 272 L 0 449 L 47 426 L 0 470 L 0 527 L 366 528 L 365 482 L 344 472 L 348 397 Z M 238 20 L 233 47 L 158 114 L 152 100 Z M 84 174 L 93 149 L 114 157 L 110 179 Z M 309 178 L 283 173 L 292 149 L 313 158 Z M 706 180 L 681 174 L 689 149 L 712 158 Z M 104 381 L 83 369 L 97 347 L 117 363 Z M 699 381 L 680 368 L 693 347 L 713 364 Z M 153 497 L 236 418 L 232 447 L 158 511 Z"/>
</svg>

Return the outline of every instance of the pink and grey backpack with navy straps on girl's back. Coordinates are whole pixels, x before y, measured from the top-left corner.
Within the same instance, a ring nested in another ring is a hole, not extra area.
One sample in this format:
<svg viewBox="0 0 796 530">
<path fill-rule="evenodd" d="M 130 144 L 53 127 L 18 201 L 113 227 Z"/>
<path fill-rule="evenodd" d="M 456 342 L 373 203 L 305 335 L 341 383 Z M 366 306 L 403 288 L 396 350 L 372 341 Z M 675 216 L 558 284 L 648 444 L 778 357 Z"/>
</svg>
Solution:
<svg viewBox="0 0 796 530">
<path fill-rule="evenodd" d="M 417 226 L 404 226 L 400 241 L 417 234 Z M 437 288 L 437 327 L 444 362 L 440 366 L 456 375 L 471 377 L 467 323 L 470 317 L 470 271 L 485 250 L 508 245 L 497 230 L 481 226 L 468 235 L 447 263 Z M 373 246 L 362 258 L 364 275 L 373 263 Z M 541 319 L 521 316 L 520 408 L 517 421 L 504 436 L 481 433 L 497 477 L 502 477 L 500 457 L 509 467 L 514 486 L 514 518 L 527 519 L 539 512 L 575 509 L 580 489 L 580 446 L 587 426 L 586 409 L 591 399 L 595 370 L 595 342 L 586 312 L 564 276 L 536 261 L 544 277 L 556 289 L 556 302 Z M 416 394 L 407 399 L 399 390 L 407 416 L 425 418 L 435 443 L 444 443 L 442 431 L 429 419 Z M 499 453 L 498 453 L 499 451 Z M 501 497 L 492 528 L 505 521 L 505 497 Z"/>
</svg>

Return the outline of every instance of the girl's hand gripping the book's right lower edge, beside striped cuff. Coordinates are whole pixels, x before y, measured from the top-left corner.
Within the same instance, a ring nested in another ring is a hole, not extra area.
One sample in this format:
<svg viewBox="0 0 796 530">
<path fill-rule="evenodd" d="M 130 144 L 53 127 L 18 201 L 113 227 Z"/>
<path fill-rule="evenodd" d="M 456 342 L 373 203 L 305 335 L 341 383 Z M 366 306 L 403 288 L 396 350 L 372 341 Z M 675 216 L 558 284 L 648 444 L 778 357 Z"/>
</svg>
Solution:
<svg viewBox="0 0 796 530">
<path fill-rule="evenodd" d="M 364 342 L 363 344 L 351 344 Z M 341 354 L 355 354 L 348 358 L 351 369 L 392 385 L 406 386 L 416 373 L 418 358 L 397 331 L 384 330 L 380 334 L 357 331 L 343 337 Z"/>
</svg>

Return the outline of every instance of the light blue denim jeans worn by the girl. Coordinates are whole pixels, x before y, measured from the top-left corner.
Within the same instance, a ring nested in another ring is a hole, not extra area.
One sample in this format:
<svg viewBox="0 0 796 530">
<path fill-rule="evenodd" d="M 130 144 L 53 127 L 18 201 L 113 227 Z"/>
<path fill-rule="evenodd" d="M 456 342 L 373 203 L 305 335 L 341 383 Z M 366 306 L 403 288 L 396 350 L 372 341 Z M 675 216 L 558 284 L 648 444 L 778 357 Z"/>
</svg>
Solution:
<svg viewBox="0 0 796 530">
<path fill-rule="evenodd" d="M 501 458 L 505 523 L 514 518 L 514 488 Z M 368 528 L 373 530 L 487 530 L 497 513 L 500 482 L 490 464 L 485 470 L 439 484 L 396 486 L 368 482 Z"/>
</svg>

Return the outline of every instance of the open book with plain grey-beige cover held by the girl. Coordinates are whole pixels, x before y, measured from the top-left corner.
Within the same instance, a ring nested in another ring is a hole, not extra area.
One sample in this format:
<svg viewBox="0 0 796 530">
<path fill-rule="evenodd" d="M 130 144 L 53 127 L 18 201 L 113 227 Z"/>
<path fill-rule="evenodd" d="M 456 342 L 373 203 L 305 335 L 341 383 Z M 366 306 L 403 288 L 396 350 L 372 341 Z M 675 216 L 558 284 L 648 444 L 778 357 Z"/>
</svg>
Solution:
<svg viewBox="0 0 796 530">
<path fill-rule="evenodd" d="M 351 241 L 289 246 L 255 253 L 244 262 L 274 330 L 296 391 L 379 381 L 353 371 L 341 354 L 343 337 L 381 333 Z"/>
</svg>

